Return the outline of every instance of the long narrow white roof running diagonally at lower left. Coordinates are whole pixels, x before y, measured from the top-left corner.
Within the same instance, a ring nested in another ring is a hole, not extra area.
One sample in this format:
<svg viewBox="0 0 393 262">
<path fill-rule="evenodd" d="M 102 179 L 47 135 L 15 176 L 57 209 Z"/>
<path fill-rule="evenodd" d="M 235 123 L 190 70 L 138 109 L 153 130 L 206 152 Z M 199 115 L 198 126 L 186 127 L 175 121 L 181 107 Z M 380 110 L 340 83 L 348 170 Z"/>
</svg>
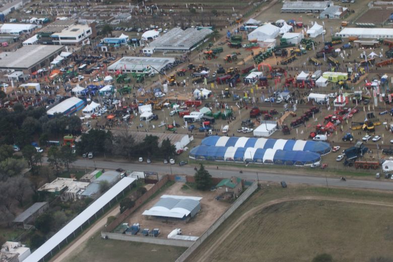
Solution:
<svg viewBox="0 0 393 262">
<path fill-rule="evenodd" d="M 38 262 L 46 254 L 48 254 L 57 245 L 60 244 L 64 239 L 70 236 L 75 230 L 77 230 L 81 225 L 83 225 L 89 218 L 94 216 L 98 211 L 100 211 L 106 204 L 108 204 L 117 194 L 123 191 L 127 186 L 132 184 L 136 179 L 130 177 L 124 177 L 113 185 L 106 193 L 101 195 L 99 199 L 94 201 L 89 207 L 87 207 L 81 214 L 76 218 L 71 220 L 70 223 L 65 225 L 56 234 L 49 238 L 44 244 L 42 244 L 37 250 L 35 250 L 31 255 L 29 255 L 25 262 Z"/>
</svg>

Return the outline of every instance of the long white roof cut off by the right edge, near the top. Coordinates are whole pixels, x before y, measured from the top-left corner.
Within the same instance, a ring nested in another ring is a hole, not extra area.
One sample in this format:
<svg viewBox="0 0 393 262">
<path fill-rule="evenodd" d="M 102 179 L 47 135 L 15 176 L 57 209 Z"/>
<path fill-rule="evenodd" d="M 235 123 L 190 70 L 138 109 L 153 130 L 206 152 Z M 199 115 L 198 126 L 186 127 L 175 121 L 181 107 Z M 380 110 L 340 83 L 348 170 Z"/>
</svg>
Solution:
<svg viewBox="0 0 393 262">
<path fill-rule="evenodd" d="M 359 38 L 393 38 L 393 28 L 347 27 L 336 35 L 342 37 L 358 36 Z"/>
</svg>

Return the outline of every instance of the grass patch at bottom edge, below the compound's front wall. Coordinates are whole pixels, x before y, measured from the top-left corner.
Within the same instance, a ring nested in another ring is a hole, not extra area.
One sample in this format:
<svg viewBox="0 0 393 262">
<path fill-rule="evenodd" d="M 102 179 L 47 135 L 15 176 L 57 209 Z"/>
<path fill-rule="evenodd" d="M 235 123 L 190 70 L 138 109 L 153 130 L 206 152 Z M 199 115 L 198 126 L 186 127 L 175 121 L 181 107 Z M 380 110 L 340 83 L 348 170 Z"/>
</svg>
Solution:
<svg viewBox="0 0 393 262">
<path fill-rule="evenodd" d="M 174 261 L 184 250 L 182 247 L 104 240 L 97 234 L 81 252 L 76 252 L 64 262 Z"/>
</svg>

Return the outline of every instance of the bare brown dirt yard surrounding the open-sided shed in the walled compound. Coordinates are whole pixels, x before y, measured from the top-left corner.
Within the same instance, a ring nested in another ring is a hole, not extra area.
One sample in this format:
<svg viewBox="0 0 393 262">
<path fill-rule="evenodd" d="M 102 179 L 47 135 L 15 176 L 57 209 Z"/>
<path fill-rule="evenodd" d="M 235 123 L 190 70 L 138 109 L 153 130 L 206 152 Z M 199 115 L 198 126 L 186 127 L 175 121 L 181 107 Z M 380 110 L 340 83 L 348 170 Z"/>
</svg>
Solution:
<svg viewBox="0 0 393 262">
<path fill-rule="evenodd" d="M 163 194 L 201 197 L 201 211 L 187 223 L 172 220 L 168 222 L 142 215 L 145 210 L 153 207 Z M 219 202 L 215 199 L 215 197 L 215 191 L 198 191 L 191 189 L 185 185 L 185 183 L 176 182 L 157 195 L 157 197 L 139 208 L 136 212 L 134 212 L 134 214 L 127 218 L 126 222 L 130 225 L 139 223 L 141 225 L 141 229 L 159 228 L 161 231 L 159 237 L 163 238 L 166 238 L 167 235 L 175 228 L 181 228 L 183 235 L 201 236 L 231 205 L 229 203 Z"/>
</svg>

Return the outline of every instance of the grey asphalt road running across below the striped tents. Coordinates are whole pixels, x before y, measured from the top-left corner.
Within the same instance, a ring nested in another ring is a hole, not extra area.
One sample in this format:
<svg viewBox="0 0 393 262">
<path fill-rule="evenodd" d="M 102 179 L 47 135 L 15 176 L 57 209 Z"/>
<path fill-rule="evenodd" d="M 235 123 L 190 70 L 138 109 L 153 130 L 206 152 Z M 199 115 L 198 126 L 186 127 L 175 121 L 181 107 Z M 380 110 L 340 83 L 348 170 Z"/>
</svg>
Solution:
<svg viewBox="0 0 393 262">
<path fill-rule="evenodd" d="M 111 162 L 111 161 L 102 161 L 102 160 L 94 160 L 94 159 L 79 159 L 73 163 L 73 166 L 79 168 L 100 168 L 100 169 L 117 169 L 122 168 L 124 170 L 132 170 L 132 171 L 148 171 L 148 172 L 157 172 L 157 173 L 167 173 L 170 174 L 187 174 L 193 175 L 195 173 L 193 165 L 185 165 L 178 166 L 175 165 L 159 165 L 159 164 L 147 164 L 144 163 L 124 163 L 124 162 Z M 172 171 L 171 171 L 172 169 Z M 309 184 L 309 185 L 318 185 L 318 186 L 326 186 L 326 181 L 328 186 L 337 186 L 337 187 L 352 187 L 352 188 L 366 188 L 366 189 L 378 189 L 378 190 L 392 190 L 393 183 L 387 181 L 385 179 L 378 180 L 360 180 L 360 179 L 347 179 L 346 182 L 340 181 L 339 178 L 332 177 L 321 177 L 321 176 L 309 176 L 309 175 L 295 175 L 295 174 L 277 174 L 277 173 L 269 173 L 269 172 L 258 172 L 258 176 L 256 172 L 253 171 L 244 171 L 243 173 L 239 172 L 239 169 L 236 167 L 228 166 L 228 169 L 224 166 L 220 166 L 220 169 L 208 169 L 210 174 L 213 177 L 224 177 L 228 178 L 231 176 L 237 176 L 241 178 L 246 178 L 249 180 L 257 180 L 263 182 L 280 182 L 285 180 L 287 184 L 296 183 L 296 184 Z"/>
</svg>

